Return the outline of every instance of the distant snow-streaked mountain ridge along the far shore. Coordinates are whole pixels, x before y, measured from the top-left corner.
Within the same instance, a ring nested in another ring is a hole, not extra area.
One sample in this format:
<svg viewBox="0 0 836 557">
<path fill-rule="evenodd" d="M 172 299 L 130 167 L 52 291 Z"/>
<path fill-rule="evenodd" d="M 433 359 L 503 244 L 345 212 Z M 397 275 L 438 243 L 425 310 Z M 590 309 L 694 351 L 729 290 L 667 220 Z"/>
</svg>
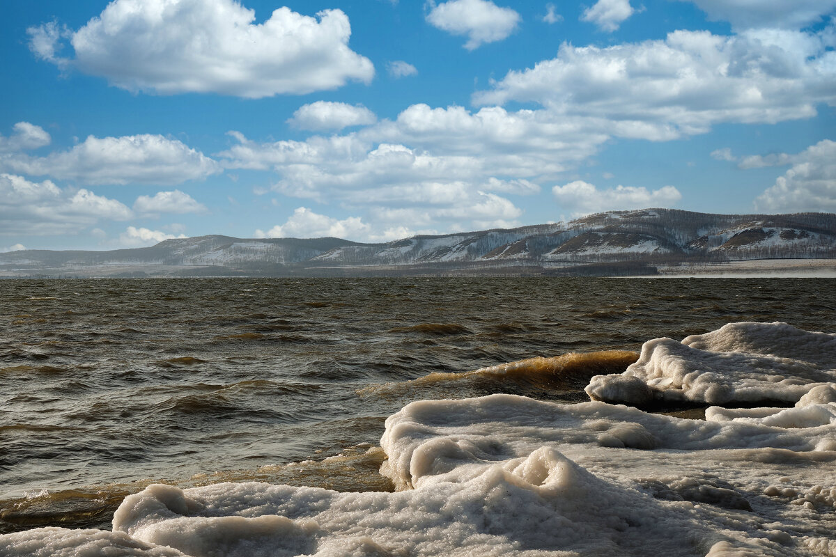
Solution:
<svg viewBox="0 0 836 557">
<path fill-rule="evenodd" d="M 0 254 L 0 275 L 618 275 L 653 273 L 661 265 L 819 258 L 836 259 L 832 213 L 712 215 L 645 209 L 377 244 L 206 235 L 114 251 L 12 251 Z"/>
</svg>

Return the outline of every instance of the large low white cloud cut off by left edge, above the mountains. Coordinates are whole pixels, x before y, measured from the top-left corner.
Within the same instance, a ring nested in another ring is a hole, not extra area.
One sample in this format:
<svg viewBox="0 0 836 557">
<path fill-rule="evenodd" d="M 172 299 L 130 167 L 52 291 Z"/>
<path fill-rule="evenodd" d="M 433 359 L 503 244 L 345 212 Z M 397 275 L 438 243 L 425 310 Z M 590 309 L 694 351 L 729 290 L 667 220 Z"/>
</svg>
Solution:
<svg viewBox="0 0 836 557">
<path fill-rule="evenodd" d="M 0 174 L 0 234 L 74 234 L 98 220 L 127 220 L 128 207 L 89 190 Z"/>
</svg>

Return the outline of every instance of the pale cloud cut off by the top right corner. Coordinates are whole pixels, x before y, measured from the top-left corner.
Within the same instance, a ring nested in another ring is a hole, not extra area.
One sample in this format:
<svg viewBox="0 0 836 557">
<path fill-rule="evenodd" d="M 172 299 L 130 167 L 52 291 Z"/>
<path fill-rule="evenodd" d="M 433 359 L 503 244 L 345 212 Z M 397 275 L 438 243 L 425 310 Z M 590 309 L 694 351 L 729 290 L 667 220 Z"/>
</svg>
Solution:
<svg viewBox="0 0 836 557">
<path fill-rule="evenodd" d="M 685 0 L 735 28 L 800 29 L 833 13 L 836 0 Z"/>
</svg>

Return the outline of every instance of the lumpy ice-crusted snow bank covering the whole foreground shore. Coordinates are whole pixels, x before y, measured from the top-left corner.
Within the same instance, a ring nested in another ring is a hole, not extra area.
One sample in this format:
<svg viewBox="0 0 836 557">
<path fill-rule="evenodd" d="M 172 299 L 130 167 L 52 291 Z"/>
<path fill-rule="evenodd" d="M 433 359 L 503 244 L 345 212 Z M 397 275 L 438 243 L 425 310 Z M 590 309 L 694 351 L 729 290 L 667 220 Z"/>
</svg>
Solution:
<svg viewBox="0 0 836 557">
<path fill-rule="evenodd" d="M 395 493 L 152 485 L 114 531 L 0 536 L 2 555 L 836 556 L 836 337 L 735 323 L 645 343 L 575 405 L 492 395 L 386 421 Z M 706 421 L 635 404 L 772 400 Z"/>
</svg>

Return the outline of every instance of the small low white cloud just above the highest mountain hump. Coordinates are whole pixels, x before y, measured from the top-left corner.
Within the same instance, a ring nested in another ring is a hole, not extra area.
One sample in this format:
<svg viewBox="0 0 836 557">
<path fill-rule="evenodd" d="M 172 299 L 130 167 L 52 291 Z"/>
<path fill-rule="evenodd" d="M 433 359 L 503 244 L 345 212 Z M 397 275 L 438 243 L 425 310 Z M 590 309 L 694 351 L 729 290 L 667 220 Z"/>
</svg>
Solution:
<svg viewBox="0 0 836 557">
<path fill-rule="evenodd" d="M 568 210 L 573 216 L 589 215 L 604 210 L 665 208 L 682 199 L 679 190 L 671 185 L 652 191 L 624 185 L 599 190 L 583 180 L 575 180 L 567 185 L 555 185 L 552 193 L 561 210 Z"/>
</svg>

